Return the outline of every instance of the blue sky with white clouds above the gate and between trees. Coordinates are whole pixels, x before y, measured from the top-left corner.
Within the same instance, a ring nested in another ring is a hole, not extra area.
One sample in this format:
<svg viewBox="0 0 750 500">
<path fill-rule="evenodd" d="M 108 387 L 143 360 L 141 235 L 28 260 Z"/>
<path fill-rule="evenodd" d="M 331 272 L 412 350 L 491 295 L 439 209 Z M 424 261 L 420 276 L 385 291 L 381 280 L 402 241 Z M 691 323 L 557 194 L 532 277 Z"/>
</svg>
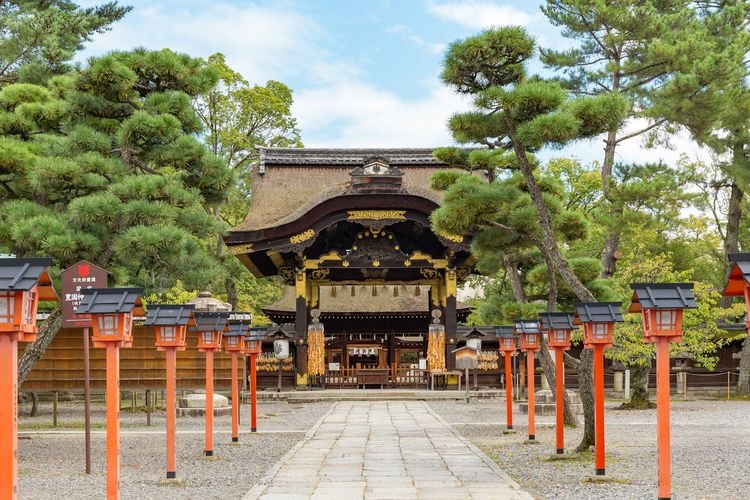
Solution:
<svg viewBox="0 0 750 500">
<path fill-rule="evenodd" d="M 82 1 L 93 5 L 100 1 Z M 469 103 L 439 81 L 445 47 L 483 28 L 525 26 L 543 46 L 569 42 L 537 1 L 493 0 L 132 0 L 84 56 L 169 47 L 194 56 L 222 52 L 253 83 L 294 90 L 293 113 L 308 147 L 433 147 L 452 142 L 446 121 Z M 634 125 L 633 125 L 634 126 Z M 676 149 L 646 151 L 627 141 L 620 160 L 674 161 L 700 155 L 685 137 Z M 601 140 L 563 152 L 601 158 Z"/>
</svg>

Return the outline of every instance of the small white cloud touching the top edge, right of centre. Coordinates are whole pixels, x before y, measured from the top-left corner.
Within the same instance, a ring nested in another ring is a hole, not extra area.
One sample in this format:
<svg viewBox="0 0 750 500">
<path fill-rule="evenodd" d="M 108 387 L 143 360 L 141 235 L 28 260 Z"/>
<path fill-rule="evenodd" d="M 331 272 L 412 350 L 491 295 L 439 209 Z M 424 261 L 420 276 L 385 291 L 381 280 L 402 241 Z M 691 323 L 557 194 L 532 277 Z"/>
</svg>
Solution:
<svg viewBox="0 0 750 500">
<path fill-rule="evenodd" d="M 490 26 L 524 26 L 532 16 L 511 5 L 498 4 L 489 0 L 454 0 L 437 2 L 427 0 L 427 10 L 446 21 L 469 28 L 487 28 Z"/>
</svg>

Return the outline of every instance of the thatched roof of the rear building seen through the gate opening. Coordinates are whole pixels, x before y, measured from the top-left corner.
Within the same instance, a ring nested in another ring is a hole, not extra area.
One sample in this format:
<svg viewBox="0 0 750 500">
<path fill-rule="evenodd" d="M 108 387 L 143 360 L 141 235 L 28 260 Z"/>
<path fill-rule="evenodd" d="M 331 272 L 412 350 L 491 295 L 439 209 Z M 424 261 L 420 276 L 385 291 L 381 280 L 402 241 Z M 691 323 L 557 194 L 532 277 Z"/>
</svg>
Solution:
<svg viewBox="0 0 750 500">
<path fill-rule="evenodd" d="M 377 288 L 377 296 L 373 296 L 372 288 Z M 329 312 L 424 312 L 430 310 L 427 304 L 427 292 L 429 286 L 415 285 L 354 285 L 355 293 L 352 295 L 352 286 L 324 286 L 320 288 L 320 310 Z M 394 297 L 394 288 L 398 289 L 398 297 Z M 419 288 L 419 295 L 416 290 Z M 332 290 L 335 289 L 335 296 Z M 281 299 L 268 307 L 264 307 L 266 314 L 269 311 L 292 312 L 295 307 L 294 287 L 287 286 Z M 470 309 L 467 304 L 458 302 L 457 310 Z"/>
</svg>

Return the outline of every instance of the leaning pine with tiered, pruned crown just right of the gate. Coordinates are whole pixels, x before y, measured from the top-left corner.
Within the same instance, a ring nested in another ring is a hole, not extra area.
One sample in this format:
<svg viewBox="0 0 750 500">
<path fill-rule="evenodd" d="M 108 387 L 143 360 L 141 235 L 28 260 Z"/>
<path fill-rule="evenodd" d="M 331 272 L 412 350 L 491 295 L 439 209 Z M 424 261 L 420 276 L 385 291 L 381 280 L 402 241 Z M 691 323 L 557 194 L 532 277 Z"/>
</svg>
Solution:
<svg viewBox="0 0 750 500">
<path fill-rule="evenodd" d="M 526 32 L 517 27 L 484 31 L 465 40 L 454 42 L 446 53 L 442 73 L 443 81 L 457 92 L 474 99 L 474 111 L 454 115 L 449 127 L 459 143 L 473 143 L 500 150 L 489 158 L 498 165 L 498 159 L 511 153 L 512 165 L 521 174 L 531 204 L 527 220 L 536 222 L 538 236 L 523 235 L 543 255 L 549 269 L 547 276 L 556 280 L 559 275 L 571 292 L 583 301 L 595 300 L 594 294 L 576 276 L 560 248 L 558 229 L 567 224 L 566 217 L 555 217 L 555 204 L 545 196 L 543 178 L 537 173 L 530 154 L 543 147 L 562 146 L 571 141 L 593 137 L 604 130 L 616 128 L 627 112 L 627 103 L 617 95 L 570 98 L 558 82 L 526 75 L 525 65 L 534 54 L 534 42 Z M 498 165 L 502 166 L 502 165 Z M 450 192 L 446 193 L 449 199 Z M 473 202 L 478 205 L 470 211 L 480 217 L 496 236 L 518 237 L 512 226 L 494 221 L 498 202 L 478 191 Z M 466 191 L 466 197 L 472 197 Z M 469 206 L 471 202 L 464 203 Z M 465 213 L 456 211 L 453 220 L 466 221 L 465 229 L 475 222 Z M 448 218 L 434 219 L 438 230 L 459 229 L 455 224 L 447 227 Z M 446 227 L 441 226 L 445 222 Z M 476 239 L 482 240 L 481 235 Z M 487 238 L 489 239 L 489 238 Z M 581 398 L 584 402 L 585 428 L 579 449 L 593 443 L 593 363 L 591 353 L 584 351 L 578 363 L 581 381 Z"/>
</svg>

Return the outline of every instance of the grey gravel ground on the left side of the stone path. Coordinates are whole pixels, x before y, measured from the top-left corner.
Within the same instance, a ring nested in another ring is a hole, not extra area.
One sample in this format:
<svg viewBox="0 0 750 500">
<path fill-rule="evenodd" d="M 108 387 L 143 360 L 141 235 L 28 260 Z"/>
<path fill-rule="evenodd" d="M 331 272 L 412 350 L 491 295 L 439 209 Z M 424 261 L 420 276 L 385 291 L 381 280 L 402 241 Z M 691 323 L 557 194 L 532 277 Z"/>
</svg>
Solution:
<svg viewBox="0 0 750 500">
<path fill-rule="evenodd" d="M 124 404 L 124 403 L 123 403 Z M 165 413 L 120 414 L 120 491 L 127 498 L 241 498 L 284 453 L 330 408 L 330 403 L 304 405 L 259 402 L 258 429 L 251 434 L 249 408 L 241 408 L 240 442 L 230 443 L 231 417 L 214 418 L 214 457 L 203 456 L 204 419 L 177 419 L 178 482 L 165 484 Z M 83 404 L 60 403 L 53 429 L 51 404 L 39 415 L 19 415 L 19 497 L 33 499 L 103 498 L 106 491 L 105 410 L 92 404 L 92 474 L 84 474 Z"/>
</svg>

